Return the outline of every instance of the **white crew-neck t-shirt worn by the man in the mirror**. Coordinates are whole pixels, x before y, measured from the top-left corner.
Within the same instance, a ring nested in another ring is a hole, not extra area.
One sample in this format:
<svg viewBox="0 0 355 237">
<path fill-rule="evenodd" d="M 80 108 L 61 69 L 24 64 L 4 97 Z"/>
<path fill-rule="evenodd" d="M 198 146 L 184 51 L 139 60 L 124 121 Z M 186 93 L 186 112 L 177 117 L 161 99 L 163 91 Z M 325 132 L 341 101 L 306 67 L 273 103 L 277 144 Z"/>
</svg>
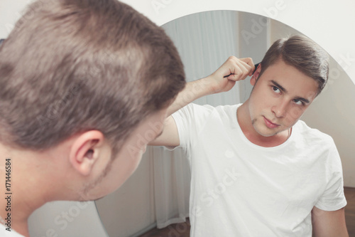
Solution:
<svg viewBox="0 0 355 237">
<path fill-rule="evenodd" d="M 332 137 L 298 121 L 277 147 L 244 136 L 239 105 L 190 104 L 175 112 L 191 168 L 191 236 L 312 236 L 314 206 L 346 205 Z"/>
</svg>

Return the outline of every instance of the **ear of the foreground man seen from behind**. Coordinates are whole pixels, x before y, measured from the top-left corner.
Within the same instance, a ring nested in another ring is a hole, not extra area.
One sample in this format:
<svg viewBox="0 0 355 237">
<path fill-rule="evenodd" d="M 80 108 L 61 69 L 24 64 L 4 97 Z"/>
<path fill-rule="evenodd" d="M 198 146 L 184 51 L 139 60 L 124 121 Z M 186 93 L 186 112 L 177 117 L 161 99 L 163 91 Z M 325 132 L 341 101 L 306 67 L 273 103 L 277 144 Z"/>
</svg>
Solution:
<svg viewBox="0 0 355 237">
<path fill-rule="evenodd" d="M 70 163 L 80 174 L 87 176 L 99 159 L 104 144 L 104 135 L 98 130 L 82 133 L 70 148 Z"/>
</svg>

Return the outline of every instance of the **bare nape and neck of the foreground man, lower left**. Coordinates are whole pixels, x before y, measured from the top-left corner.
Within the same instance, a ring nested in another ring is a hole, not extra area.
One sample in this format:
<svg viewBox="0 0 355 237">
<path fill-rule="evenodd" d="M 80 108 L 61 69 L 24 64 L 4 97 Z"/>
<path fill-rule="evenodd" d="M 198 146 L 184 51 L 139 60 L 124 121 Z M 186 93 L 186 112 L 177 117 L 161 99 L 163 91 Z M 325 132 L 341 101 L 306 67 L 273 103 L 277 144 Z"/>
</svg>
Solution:
<svg viewBox="0 0 355 237">
<path fill-rule="evenodd" d="M 11 227 L 11 231 L 23 236 L 29 236 L 27 220 L 33 211 L 48 201 L 58 200 L 58 196 L 55 199 L 58 193 L 53 189 L 53 184 L 58 183 L 55 171 L 43 158 L 41 154 L 0 144 L 0 190 L 7 198 L 0 199 L 0 216 L 9 222 L 6 228 Z"/>
</svg>

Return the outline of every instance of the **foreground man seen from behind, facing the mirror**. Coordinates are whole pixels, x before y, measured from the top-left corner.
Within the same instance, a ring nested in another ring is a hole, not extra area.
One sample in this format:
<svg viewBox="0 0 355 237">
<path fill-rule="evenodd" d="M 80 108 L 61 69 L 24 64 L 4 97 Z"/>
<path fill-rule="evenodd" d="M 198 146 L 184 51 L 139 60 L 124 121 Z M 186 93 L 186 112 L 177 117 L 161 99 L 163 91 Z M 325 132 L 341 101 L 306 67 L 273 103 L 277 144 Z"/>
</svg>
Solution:
<svg viewBox="0 0 355 237">
<path fill-rule="evenodd" d="M 130 6 L 31 4 L 0 48 L 0 236 L 28 236 L 48 201 L 121 186 L 184 87 L 173 42 Z"/>
</svg>

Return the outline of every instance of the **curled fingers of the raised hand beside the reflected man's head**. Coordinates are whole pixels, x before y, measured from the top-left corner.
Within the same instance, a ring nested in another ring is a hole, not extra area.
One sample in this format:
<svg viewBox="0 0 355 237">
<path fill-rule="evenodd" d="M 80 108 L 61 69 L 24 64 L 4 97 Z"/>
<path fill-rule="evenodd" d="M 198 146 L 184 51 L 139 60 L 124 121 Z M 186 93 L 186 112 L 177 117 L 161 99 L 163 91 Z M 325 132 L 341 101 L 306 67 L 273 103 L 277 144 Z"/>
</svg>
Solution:
<svg viewBox="0 0 355 237">
<path fill-rule="evenodd" d="M 244 80 L 248 75 L 253 74 L 255 68 L 253 60 L 251 58 L 236 58 L 234 56 L 229 57 L 226 60 L 226 69 L 229 70 L 229 80 Z"/>
</svg>

